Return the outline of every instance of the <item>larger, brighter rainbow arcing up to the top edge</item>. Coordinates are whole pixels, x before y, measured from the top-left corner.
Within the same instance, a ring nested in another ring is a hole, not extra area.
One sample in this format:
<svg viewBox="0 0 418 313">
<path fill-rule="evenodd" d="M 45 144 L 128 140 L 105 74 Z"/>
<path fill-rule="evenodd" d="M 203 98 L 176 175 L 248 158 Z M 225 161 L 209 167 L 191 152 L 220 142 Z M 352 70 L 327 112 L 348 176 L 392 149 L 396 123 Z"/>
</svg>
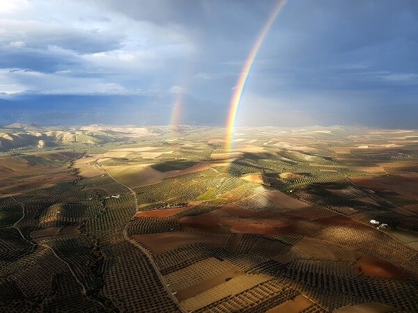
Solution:
<svg viewBox="0 0 418 313">
<path fill-rule="evenodd" d="M 258 38 L 256 42 L 254 43 L 254 46 L 252 47 L 251 51 L 249 52 L 249 56 L 247 60 L 245 61 L 244 66 L 242 66 L 240 77 L 238 77 L 238 81 L 233 90 L 233 95 L 231 97 L 231 102 L 229 104 L 229 115 L 226 121 L 226 143 L 225 143 L 226 150 L 231 150 L 233 129 L 235 125 L 235 120 L 237 118 L 238 106 L 240 105 L 242 91 L 244 90 L 245 82 L 247 81 L 249 71 L 251 70 L 251 66 L 254 63 L 254 59 L 257 56 L 257 53 L 261 47 L 261 44 L 264 41 L 265 35 L 267 35 L 270 27 L 272 26 L 274 22 L 274 19 L 276 19 L 281 8 L 283 8 L 285 2 L 286 0 L 277 1 L 276 6 L 274 6 L 274 9 L 272 10 L 272 14 L 270 14 L 267 22 L 265 22 L 263 26 L 263 29 L 261 29 L 260 33 L 258 34 Z"/>
</svg>

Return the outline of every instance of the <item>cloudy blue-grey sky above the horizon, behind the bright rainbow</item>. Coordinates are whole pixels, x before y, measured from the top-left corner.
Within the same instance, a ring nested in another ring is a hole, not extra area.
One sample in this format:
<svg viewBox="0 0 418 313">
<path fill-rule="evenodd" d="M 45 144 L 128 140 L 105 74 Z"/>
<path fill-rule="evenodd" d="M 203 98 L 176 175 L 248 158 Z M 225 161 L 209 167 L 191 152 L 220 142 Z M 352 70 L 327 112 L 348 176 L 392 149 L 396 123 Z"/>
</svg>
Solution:
<svg viewBox="0 0 418 313">
<path fill-rule="evenodd" d="M 182 94 L 227 112 L 275 3 L 0 0 L 0 97 Z M 417 128 L 417 56 L 415 0 L 288 0 L 251 68 L 237 125 Z"/>
</svg>

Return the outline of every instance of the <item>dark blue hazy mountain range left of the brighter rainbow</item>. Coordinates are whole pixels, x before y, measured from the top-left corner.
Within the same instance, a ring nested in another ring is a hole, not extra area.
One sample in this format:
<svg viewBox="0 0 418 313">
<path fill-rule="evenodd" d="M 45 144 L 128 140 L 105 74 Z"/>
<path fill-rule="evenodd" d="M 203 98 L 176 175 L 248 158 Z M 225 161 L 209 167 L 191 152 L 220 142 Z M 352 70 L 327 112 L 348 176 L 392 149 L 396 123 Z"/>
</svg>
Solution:
<svg viewBox="0 0 418 313">
<path fill-rule="evenodd" d="M 169 125 L 176 96 L 15 95 L 0 99 L 0 125 Z M 226 107 L 183 96 L 178 122 L 223 125 Z"/>
</svg>

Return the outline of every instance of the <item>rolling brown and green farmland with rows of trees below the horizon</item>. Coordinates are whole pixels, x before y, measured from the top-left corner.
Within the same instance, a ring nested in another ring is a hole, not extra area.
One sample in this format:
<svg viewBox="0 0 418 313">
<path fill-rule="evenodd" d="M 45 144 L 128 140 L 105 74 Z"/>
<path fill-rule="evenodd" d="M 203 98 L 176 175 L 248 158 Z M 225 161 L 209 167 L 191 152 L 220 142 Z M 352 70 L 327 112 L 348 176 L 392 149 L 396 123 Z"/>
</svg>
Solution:
<svg viewBox="0 0 418 313">
<path fill-rule="evenodd" d="M 3 144 L 2 311 L 418 312 L 418 131 L 117 130 Z"/>
</svg>

